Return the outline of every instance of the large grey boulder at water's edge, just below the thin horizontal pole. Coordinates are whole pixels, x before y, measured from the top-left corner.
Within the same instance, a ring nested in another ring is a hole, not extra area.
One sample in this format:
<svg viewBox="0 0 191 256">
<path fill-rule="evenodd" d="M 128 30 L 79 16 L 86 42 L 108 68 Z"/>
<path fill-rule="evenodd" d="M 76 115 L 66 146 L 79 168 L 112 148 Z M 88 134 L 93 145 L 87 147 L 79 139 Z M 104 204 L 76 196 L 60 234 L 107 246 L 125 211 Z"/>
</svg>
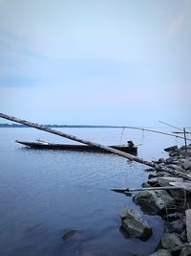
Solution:
<svg viewBox="0 0 191 256">
<path fill-rule="evenodd" d="M 142 206 L 145 212 L 151 214 L 158 214 L 165 207 L 164 201 L 154 191 L 140 191 L 134 200 Z"/>
</svg>

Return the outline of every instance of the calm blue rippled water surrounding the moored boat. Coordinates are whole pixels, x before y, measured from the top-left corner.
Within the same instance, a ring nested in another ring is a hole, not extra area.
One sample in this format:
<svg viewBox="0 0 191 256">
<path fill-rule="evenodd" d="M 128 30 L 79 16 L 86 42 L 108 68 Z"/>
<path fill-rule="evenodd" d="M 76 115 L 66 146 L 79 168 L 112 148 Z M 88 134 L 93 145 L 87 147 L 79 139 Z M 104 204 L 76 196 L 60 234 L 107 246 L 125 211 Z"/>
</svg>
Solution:
<svg viewBox="0 0 191 256">
<path fill-rule="evenodd" d="M 180 140 L 117 128 L 61 128 L 105 145 L 133 140 L 138 156 L 165 157 L 163 148 Z M 32 128 L 0 128 L 0 255 L 2 256 L 128 256 L 149 255 L 159 243 L 163 224 L 153 225 L 147 242 L 126 239 L 119 231 L 123 207 L 141 210 L 132 198 L 110 188 L 138 188 L 147 179 L 145 167 L 113 154 L 37 151 L 14 141 L 35 139 L 71 143 Z M 69 230 L 80 230 L 66 241 Z"/>
</svg>

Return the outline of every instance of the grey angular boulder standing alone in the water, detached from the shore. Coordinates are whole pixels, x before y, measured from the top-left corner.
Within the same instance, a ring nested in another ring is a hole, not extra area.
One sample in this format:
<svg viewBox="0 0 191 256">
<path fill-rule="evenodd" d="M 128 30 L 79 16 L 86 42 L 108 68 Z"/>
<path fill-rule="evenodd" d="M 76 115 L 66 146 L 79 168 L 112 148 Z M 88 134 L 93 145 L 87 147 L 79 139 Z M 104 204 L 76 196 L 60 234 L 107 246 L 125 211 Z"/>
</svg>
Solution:
<svg viewBox="0 0 191 256">
<path fill-rule="evenodd" d="M 135 237 L 142 241 L 147 241 L 153 231 L 152 227 L 144 221 L 138 211 L 123 208 L 120 214 L 121 227 L 120 230 L 125 237 Z"/>
</svg>

